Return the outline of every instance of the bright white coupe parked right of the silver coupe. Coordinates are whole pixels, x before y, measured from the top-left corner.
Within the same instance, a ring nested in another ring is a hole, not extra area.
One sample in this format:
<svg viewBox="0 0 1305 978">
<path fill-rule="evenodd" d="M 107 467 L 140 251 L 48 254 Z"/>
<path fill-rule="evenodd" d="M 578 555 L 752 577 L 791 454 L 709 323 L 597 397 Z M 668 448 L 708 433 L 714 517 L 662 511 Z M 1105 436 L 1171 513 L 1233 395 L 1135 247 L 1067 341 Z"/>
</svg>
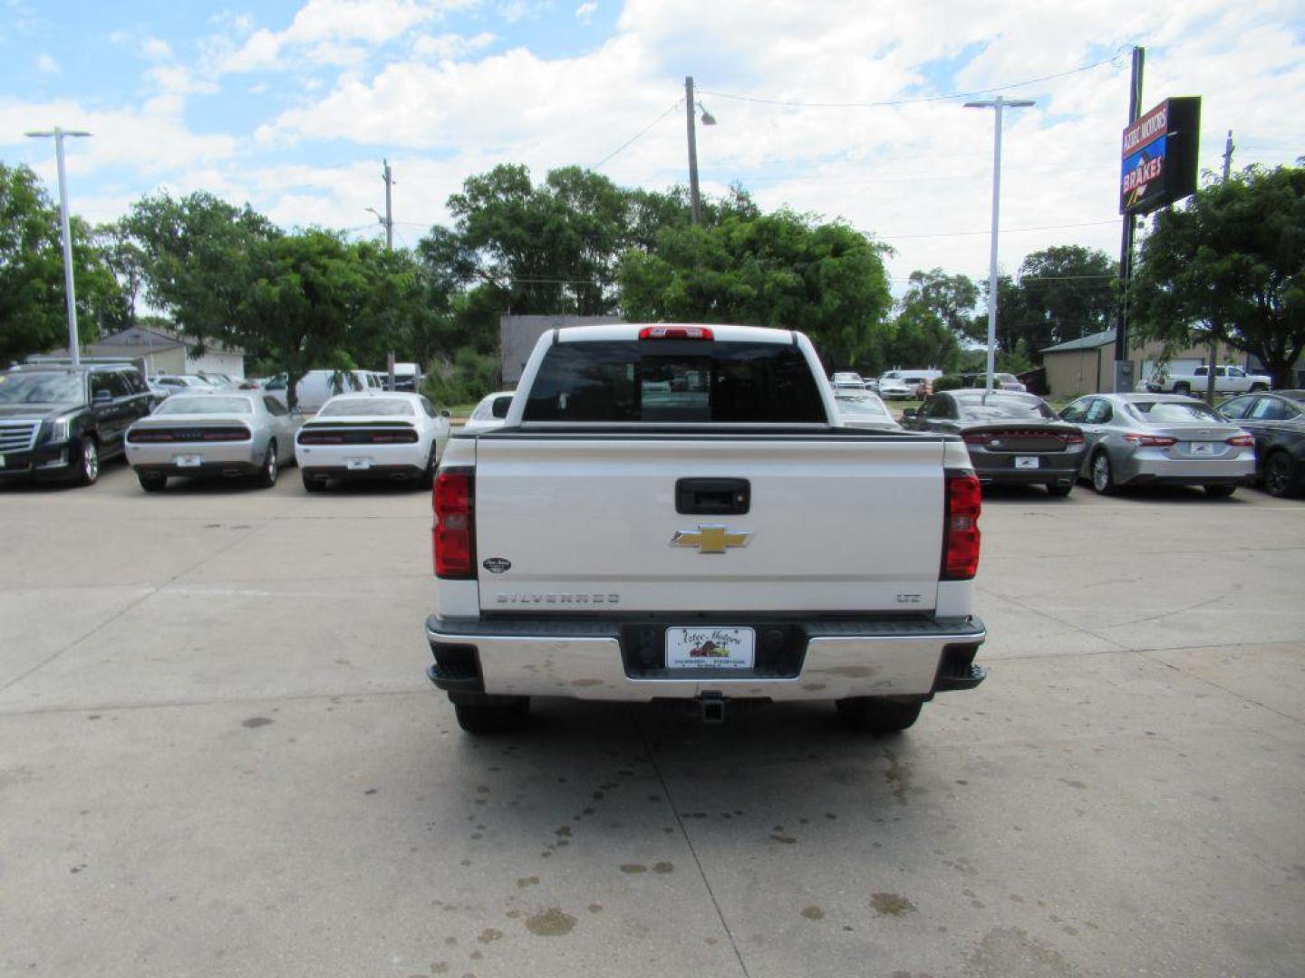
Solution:
<svg viewBox="0 0 1305 978">
<path fill-rule="evenodd" d="M 420 394 L 338 394 L 299 429 L 304 489 L 331 480 L 382 479 L 429 488 L 449 441 L 449 412 Z"/>
</svg>

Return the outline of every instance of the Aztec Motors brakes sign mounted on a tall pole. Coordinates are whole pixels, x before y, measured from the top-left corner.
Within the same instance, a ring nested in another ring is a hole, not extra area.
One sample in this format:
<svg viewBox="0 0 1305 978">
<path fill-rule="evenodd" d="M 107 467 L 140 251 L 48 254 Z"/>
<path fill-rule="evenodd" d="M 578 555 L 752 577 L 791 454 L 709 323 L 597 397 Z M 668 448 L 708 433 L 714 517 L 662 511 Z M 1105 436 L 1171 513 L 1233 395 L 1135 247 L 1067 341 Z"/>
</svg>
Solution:
<svg viewBox="0 0 1305 978">
<path fill-rule="evenodd" d="M 1150 214 L 1197 192 L 1201 98 L 1165 99 L 1124 129 L 1120 214 Z"/>
</svg>

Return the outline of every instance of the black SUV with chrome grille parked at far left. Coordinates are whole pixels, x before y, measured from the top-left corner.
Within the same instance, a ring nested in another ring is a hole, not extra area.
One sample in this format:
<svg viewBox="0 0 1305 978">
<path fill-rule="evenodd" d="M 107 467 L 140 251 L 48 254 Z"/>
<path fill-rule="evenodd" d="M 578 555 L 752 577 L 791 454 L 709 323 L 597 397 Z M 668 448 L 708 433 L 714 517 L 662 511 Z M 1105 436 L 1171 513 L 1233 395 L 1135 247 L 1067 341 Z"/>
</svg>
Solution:
<svg viewBox="0 0 1305 978">
<path fill-rule="evenodd" d="M 0 372 L 0 480 L 90 485 L 121 455 L 128 426 L 154 396 L 129 364 L 37 364 Z"/>
</svg>

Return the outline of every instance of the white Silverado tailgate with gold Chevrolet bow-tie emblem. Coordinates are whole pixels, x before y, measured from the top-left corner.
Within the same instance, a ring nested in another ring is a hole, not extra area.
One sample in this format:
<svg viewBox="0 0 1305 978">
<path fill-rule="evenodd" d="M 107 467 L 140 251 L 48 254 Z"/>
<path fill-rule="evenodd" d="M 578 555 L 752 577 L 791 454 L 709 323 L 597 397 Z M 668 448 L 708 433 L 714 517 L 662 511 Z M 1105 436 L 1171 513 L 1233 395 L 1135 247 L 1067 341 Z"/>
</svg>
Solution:
<svg viewBox="0 0 1305 978">
<path fill-rule="evenodd" d="M 932 610 L 942 455 L 928 436 L 483 437 L 480 608 Z M 745 480 L 748 511 L 677 512 L 684 479 Z"/>
</svg>

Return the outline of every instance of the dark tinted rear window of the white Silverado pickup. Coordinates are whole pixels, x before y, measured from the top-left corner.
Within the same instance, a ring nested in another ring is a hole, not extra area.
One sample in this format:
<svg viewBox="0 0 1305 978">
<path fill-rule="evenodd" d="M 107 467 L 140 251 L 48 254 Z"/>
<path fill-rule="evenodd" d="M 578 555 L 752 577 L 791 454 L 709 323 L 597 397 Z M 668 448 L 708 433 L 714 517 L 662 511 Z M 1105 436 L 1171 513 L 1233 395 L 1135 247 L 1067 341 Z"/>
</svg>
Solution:
<svg viewBox="0 0 1305 978">
<path fill-rule="evenodd" d="M 556 343 L 539 366 L 522 420 L 827 421 L 797 347 L 702 340 Z"/>
</svg>

